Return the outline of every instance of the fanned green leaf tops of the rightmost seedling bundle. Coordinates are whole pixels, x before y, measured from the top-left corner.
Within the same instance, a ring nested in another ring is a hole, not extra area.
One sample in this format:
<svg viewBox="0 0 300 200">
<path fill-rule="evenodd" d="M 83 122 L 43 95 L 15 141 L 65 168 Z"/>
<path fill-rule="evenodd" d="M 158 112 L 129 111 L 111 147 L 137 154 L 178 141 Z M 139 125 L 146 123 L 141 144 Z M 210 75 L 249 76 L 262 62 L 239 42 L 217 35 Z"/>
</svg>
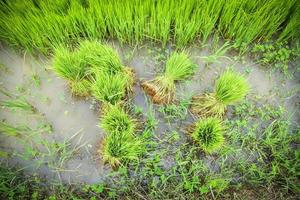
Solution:
<svg viewBox="0 0 300 200">
<path fill-rule="evenodd" d="M 216 99 L 222 104 L 230 105 L 242 100 L 249 89 L 250 86 L 242 75 L 227 70 L 216 81 Z"/>
</svg>

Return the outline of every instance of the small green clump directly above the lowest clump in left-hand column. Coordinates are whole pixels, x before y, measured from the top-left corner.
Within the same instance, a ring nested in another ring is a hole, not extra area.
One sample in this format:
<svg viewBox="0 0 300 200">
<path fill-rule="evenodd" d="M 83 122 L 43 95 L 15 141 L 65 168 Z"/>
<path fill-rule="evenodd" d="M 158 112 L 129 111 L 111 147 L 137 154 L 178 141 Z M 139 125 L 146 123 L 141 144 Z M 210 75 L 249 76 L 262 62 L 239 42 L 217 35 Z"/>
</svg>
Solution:
<svg viewBox="0 0 300 200">
<path fill-rule="evenodd" d="M 103 111 L 100 126 L 107 133 L 127 132 L 134 134 L 136 121 L 132 119 L 120 106 L 108 105 Z"/>
</svg>

